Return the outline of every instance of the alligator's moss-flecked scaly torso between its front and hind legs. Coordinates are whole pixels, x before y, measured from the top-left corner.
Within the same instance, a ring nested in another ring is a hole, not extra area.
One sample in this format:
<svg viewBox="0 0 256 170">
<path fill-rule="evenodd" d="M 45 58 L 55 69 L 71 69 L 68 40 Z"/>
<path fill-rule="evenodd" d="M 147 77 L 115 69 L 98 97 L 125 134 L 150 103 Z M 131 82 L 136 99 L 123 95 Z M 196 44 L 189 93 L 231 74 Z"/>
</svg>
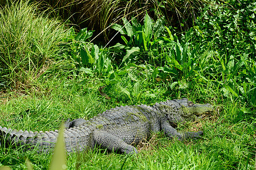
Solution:
<svg viewBox="0 0 256 170">
<path fill-rule="evenodd" d="M 105 111 L 86 121 L 97 130 L 106 131 L 123 139 L 127 144 L 138 144 L 148 138 L 152 131 L 160 130 L 159 114 L 147 105 L 121 106 Z"/>
</svg>

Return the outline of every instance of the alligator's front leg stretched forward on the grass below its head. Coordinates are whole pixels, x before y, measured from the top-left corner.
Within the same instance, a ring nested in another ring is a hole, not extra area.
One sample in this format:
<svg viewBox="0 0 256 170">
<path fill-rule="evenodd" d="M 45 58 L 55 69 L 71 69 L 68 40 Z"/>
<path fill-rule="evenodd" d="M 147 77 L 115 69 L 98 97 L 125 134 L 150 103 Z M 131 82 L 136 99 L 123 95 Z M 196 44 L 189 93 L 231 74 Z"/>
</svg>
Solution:
<svg viewBox="0 0 256 170">
<path fill-rule="evenodd" d="M 167 135 L 169 138 L 178 138 L 179 140 L 183 140 L 185 138 L 201 138 L 201 135 L 203 135 L 203 131 L 197 131 L 197 132 L 184 132 L 180 133 L 175 128 L 173 128 L 168 121 L 163 121 L 161 124 L 161 129 L 164 131 L 164 134 Z"/>
</svg>

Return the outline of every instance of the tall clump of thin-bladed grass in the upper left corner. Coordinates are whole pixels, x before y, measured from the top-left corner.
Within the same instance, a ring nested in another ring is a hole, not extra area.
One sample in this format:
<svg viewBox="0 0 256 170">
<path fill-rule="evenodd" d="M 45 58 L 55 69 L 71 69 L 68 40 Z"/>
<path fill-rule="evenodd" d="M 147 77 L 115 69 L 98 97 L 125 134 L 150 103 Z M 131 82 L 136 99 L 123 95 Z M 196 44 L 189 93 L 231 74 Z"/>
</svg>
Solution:
<svg viewBox="0 0 256 170">
<path fill-rule="evenodd" d="M 0 10 L 0 86 L 18 87 L 42 74 L 61 52 L 64 24 L 49 19 L 28 1 Z"/>
</svg>

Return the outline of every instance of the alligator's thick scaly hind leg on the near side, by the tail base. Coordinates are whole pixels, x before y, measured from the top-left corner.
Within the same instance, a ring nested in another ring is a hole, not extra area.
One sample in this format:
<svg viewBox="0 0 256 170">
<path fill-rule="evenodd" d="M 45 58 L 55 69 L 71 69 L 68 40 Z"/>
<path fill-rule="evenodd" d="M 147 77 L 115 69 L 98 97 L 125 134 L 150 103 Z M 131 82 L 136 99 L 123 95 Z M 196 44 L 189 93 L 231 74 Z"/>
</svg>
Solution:
<svg viewBox="0 0 256 170">
<path fill-rule="evenodd" d="M 95 130 L 93 133 L 94 142 L 109 151 L 121 152 L 126 154 L 138 154 L 134 146 L 128 145 L 121 138 L 118 138 L 106 131 Z"/>
</svg>

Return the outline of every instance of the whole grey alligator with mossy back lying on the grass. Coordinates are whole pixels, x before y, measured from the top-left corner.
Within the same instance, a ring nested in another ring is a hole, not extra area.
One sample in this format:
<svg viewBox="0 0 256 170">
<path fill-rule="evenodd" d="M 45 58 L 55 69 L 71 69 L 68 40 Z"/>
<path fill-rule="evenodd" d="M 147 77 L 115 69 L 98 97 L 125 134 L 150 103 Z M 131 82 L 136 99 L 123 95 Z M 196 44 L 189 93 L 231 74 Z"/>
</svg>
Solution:
<svg viewBox="0 0 256 170">
<path fill-rule="evenodd" d="M 177 131 L 178 122 L 195 121 L 212 111 L 210 104 L 194 104 L 188 99 L 167 100 L 147 105 L 112 108 L 90 120 L 78 118 L 65 122 L 64 139 L 67 152 L 77 152 L 100 146 L 108 151 L 137 154 L 134 147 L 152 133 L 163 131 L 167 137 L 183 140 L 201 138 L 203 131 Z M 58 130 L 22 131 L 0 126 L 1 145 L 24 147 L 38 152 L 51 151 Z"/>
</svg>

